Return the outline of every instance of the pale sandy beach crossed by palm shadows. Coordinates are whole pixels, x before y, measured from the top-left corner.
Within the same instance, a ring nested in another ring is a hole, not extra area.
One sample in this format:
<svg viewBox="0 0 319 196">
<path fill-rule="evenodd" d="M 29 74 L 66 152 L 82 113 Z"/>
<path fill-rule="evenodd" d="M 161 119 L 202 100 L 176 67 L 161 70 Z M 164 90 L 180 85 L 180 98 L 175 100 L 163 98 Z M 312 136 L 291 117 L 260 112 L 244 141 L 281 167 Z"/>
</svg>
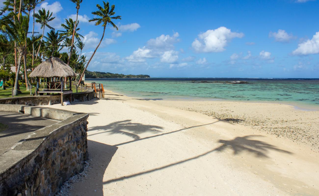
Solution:
<svg viewBox="0 0 319 196">
<path fill-rule="evenodd" d="M 70 195 L 319 195 L 317 111 L 106 96 L 49 106 L 90 114 L 91 169 Z M 314 139 L 271 131 L 299 124 Z"/>
</svg>

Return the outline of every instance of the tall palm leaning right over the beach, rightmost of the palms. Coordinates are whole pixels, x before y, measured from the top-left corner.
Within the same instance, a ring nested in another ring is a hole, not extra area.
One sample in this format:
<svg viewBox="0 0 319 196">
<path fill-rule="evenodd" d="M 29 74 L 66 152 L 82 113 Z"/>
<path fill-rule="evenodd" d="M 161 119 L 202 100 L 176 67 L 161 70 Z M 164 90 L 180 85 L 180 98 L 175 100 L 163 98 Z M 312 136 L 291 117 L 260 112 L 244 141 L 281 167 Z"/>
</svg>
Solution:
<svg viewBox="0 0 319 196">
<path fill-rule="evenodd" d="M 87 69 L 87 66 L 89 65 L 89 63 L 91 62 L 96 50 L 98 49 L 98 47 L 100 46 L 102 40 L 103 40 L 103 37 L 104 37 L 104 33 L 105 33 L 105 28 L 106 28 L 106 25 L 109 23 L 111 24 L 116 30 L 118 30 L 117 26 L 112 22 L 112 19 L 121 19 L 121 16 L 113 16 L 115 14 L 114 12 L 114 9 L 115 9 L 115 5 L 112 5 L 111 6 L 111 10 L 110 10 L 110 6 L 109 6 L 109 3 L 105 3 L 103 1 L 103 5 L 104 5 L 104 8 L 101 7 L 99 4 L 96 4 L 96 7 L 98 8 L 98 11 L 93 11 L 92 14 L 99 17 L 99 18 L 92 18 L 89 20 L 89 22 L 91 21 L 96 21 L 95 22 L 95 25 L 100 25 L 101 23 L 103 23 L 103 34 L 102 34 L 102 37 L 101 37 L 101 40 L 100 40 L 100 43 L 96 46 L 93 54 L 91 55 L 89 61 L 86 63 L 86 66 L 81 74 L 81 77 L 80 77 L 80 80 L 78 82 L 78 85 L 80 85 L 81 83 L 81 80 L 82 80 L 82 77 L 84 76 L 84 72 L 85 70 Z"/>
</svg>

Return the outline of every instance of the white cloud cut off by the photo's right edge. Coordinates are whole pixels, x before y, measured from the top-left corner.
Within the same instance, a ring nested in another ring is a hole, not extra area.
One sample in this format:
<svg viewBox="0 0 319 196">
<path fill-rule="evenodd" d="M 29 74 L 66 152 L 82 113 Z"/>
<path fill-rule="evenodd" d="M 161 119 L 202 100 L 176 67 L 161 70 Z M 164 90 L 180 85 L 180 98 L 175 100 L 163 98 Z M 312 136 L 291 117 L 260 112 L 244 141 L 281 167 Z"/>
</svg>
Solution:
<svg viewBox="0 0 319 196">
<path fill-rule="evenodd" d="M 312 37 L 311 40 L 306 40 L 298 44 L 298 48 L 293 51 L 295 55 L 307 55 L 319 53 L 319 32 Z"/>
</svg>

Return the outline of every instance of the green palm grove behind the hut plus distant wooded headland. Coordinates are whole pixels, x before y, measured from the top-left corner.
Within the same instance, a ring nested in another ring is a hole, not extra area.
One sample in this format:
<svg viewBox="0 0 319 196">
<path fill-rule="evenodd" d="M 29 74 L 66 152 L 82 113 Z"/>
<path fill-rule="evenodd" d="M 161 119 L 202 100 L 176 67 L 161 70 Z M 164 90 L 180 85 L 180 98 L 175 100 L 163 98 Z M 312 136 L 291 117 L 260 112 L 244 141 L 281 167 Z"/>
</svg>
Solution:
<svg viewBox="0 0 319 196">
<path fill-rule="evenodd" d="M 95 25 L 101 25 L 103 34 L 100 43 L 87 61 L 86 56 L 82 55 L 82 50 L 85 47 L 82 41 L 84 37 L 78 33 L 80 30 L 78 14 L 82 0 L 70 0 L 75 5 L 76 19 L 65 19 L 64 23 L 61 24 L 63 29 L 59 31 L 50 25 L 55 19 L 50 10 L 36 11 L 36 7 L 43 1 L 4 0 L 3 6 L 0 8 L 0 79 L 6 84 L 11 81 L 10 83 L 14 85 L 14 95 L 19 94 L 19 85 L 23 83 L 26 89 L 32 88 L 29 74 L 37 65 L 50 57 L 60 58 L 81 76 L 84 73 L 88 73 L 88 76 L 93 73 L 94 77 L 133 76 L 85 72 L 104 38 L 106 26 L 109 24 L 116 30 L 118 29 L 114 20 L 121 19 L 121 16 L 115 16 L 115 5 L 103 1 L 102 6 L 97 4 L 97 11 L 92 12 L 95 17 L 89 21 L 95 22 Z M 30 23 L 31 18 L 33 23 L 32 21 Z M 34 31 L 36 23 L 40 25 L 40 33 Z M 14 69 L 15 72 L 12 72 L 11 70 Z"/>
</svg>

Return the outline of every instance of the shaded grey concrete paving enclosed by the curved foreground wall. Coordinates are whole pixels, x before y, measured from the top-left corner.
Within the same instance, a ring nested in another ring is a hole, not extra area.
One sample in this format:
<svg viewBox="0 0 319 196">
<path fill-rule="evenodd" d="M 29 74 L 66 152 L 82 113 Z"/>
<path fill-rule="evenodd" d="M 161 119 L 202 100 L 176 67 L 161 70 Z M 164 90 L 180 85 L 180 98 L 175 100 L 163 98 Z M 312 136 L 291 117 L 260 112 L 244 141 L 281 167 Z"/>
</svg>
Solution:
<svg viewBox="0 0 319 196">
<path fill-rule="evenodd" d="M 28 114 L 0 112 L 0 123 L 3 124 L 0 126 L 0 155 L 33 131 L 56 122 Z"/>
</svg>

